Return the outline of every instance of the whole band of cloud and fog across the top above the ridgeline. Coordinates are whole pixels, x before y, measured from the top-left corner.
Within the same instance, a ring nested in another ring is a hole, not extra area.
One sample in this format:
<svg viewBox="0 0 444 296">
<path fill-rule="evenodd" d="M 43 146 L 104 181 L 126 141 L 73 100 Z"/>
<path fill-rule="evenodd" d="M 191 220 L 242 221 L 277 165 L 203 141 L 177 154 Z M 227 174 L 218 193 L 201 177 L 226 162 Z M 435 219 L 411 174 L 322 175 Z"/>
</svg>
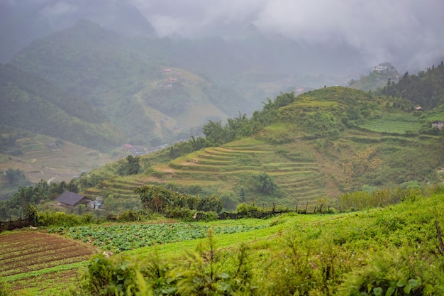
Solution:
<svg viewBox="0 0 444 296">
<path fill-rule="evenodd" d="M 152 29 L 160 38 L 228 38 L 253 23 L 326 55 L 331 46 L 352 48 L 363 57 L 361 67 L 388 61 L 421 70 L 444 57 L 442 0 L 0 0 L 0 17 L 3 61 L 79 18 L 130 35 Z"/>
</svg>

